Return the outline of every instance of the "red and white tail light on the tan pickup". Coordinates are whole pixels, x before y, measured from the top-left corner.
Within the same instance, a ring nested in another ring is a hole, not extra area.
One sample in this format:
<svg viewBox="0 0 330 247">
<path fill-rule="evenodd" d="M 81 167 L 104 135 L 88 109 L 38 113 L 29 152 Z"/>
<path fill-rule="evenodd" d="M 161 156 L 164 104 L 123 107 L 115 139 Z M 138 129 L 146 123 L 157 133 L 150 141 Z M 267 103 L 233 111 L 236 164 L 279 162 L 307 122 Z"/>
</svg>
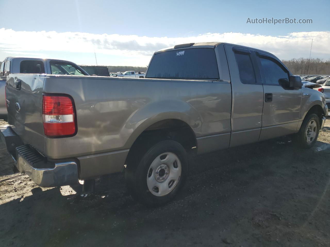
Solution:
<svg viewBox="0 0 330 247">
<path fill-rule="evenodd" d="M 71 136 L 76 133 L 75 109 L 69 96 L 43 96 L 44 133 L 49 137 Z"/>
</svg>

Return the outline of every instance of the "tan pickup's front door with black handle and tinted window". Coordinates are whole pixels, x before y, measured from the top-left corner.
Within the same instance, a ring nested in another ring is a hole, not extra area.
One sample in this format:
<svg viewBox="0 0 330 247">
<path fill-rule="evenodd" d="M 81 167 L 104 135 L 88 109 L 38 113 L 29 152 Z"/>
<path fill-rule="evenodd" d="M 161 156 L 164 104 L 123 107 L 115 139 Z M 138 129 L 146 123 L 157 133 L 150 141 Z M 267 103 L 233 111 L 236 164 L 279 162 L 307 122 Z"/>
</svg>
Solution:
<svg viewBox="0 0 330 247">
<path fill-rule="evenodd" d="M 264 87 L 260 141 L 296 132 L 300 119 L 301 89 L 289 89 L 290 72 L 276 57 L 256 52 Z"/>
</svg>

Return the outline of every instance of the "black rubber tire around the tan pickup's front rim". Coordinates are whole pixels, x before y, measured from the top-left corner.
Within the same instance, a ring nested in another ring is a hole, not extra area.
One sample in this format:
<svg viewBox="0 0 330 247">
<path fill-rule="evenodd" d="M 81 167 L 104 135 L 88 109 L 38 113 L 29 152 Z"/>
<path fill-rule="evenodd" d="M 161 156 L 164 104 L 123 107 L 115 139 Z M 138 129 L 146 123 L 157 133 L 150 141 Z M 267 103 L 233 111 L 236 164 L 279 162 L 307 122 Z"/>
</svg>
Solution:
<svg viewBox="0 0 330 247">
<path fill-rule="evenodd" d="M 308 142 L 306 132 L 307 132 L 308 124 L 311 123 L 311 121 L 315 121 L 316 123 L 316 127 L 315 127 L 316 136 L 313 138 L 312 141 Z M 314 113 L 306 115 L 306 117 L 303 120 L 303 123 L 301 124 L 299 132 L 296 134 L 297 145 L 304 149 L 312 148 L 316 143 L 319 131 L 320 131 L 319 117 Z"/>
</svg>

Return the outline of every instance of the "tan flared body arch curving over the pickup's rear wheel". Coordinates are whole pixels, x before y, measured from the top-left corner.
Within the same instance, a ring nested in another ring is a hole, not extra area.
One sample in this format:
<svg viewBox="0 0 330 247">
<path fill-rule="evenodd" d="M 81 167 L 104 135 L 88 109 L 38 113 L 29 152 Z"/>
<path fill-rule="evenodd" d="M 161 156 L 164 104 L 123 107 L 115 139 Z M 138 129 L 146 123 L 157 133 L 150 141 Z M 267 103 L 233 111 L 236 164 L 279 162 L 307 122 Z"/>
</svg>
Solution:
<svg viewBox="0 0 330 247">
<path fill-rule="evenodd" d="M 149 102 L 133 112 L 121 129 L 120 136 L 127 139 L 124 148 L 130 148 L 138 136 L 149 126 L 167 119 L 181 120 L 188 124 L 194 132 L 198 132 L 202 127 L 200 114 L 185 101 L 173 99 Z"/>
</svg>

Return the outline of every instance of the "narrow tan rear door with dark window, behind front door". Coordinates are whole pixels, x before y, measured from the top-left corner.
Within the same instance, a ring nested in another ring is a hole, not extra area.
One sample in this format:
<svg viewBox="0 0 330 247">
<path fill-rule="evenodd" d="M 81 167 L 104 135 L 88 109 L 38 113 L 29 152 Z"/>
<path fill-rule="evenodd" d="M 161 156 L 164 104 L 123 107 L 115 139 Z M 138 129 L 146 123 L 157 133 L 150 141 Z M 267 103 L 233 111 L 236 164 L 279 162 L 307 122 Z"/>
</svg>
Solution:
<svg viewBox="0 0 330 247">
<path fill-rule="evenodd" d="M 253 50 L 224 45 L 232 86 L 230 147 L 257 142 L 264 91 Z"/>
</svg>

